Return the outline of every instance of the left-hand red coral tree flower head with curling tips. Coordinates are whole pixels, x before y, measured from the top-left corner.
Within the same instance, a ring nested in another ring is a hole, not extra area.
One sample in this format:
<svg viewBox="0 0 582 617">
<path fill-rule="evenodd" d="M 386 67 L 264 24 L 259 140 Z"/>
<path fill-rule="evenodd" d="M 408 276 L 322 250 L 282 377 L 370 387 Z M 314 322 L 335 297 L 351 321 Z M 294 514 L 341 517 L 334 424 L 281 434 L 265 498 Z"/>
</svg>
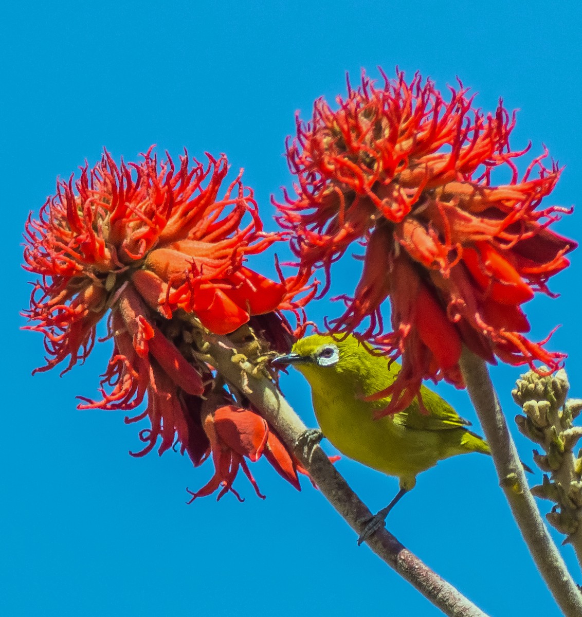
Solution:
<svg viewBox="0 0 582 617">
<path fill-rule="evenodd" d="M 37 370 L 69 358 L 65 372 L 83 362 L 108 315 L 114 351 L 102 400 L 80 397 L 79 407 L 134 410 L 147 400 L 143 413 L 126 418 L 151 421 L 136 455 L 152 450 L 159 437 L 162 454 L 177 439 L 194 465 L 211 449 L 201 413 L 214 377 L 200 359 L 197 336 L 205 328 L 232 333 L 252 321 L 264 342 L 288 351 L 293 337 L 280 309 L 297 313 L 314 292 L 309 273 L 275 282 L 244 265 L 279 234 L 262 231 L 240 174 L 218 197 L 227 159 L 207 157 L 206 167 L 194 160 L 190 168 L 187 153 L 178 167 L 169 156 L 159 165 L 150 149 L 139 163 L 117 165 L 105 151 L 93 169 L 81 168 L 78 180 L 57 181 L 38 220 L 28 218 L 24 252 L 25 268 L 40 276 L 25 313 L 33 322 L 26 327 L 44 334 L 46 366 Z M 225 478 L 229 489 L 235 474 L 231 469 Z"/>
</svg>

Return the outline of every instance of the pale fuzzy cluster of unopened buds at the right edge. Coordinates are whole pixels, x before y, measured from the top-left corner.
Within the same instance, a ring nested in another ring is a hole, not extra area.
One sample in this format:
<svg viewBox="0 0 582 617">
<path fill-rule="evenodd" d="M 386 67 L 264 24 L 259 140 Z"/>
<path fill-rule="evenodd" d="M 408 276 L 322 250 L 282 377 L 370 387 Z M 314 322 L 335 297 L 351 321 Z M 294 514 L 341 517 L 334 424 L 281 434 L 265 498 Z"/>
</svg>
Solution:
<svg viewBox="0 0 582 617">
<path fill-rule="evenodd" d="M 582 411 L 582 400 L 566 400 L 569 387 L 564 370 L 547 376 L 528 371 L 517 380 L 512 395 L 525 413 L 515 416 L 520 432 L 543 450 L 533 451 L 534 462 L 546 473 L 531 492 L 554 502 L 547 520 L 568 536 L 565 542 L 577 544 L 577 536 L 582 537 L 582 450 L 577 456 L 573 450 L 582 427 L 573 426 L 573 421 Z"/>
</svg>

